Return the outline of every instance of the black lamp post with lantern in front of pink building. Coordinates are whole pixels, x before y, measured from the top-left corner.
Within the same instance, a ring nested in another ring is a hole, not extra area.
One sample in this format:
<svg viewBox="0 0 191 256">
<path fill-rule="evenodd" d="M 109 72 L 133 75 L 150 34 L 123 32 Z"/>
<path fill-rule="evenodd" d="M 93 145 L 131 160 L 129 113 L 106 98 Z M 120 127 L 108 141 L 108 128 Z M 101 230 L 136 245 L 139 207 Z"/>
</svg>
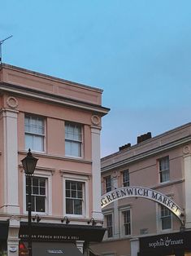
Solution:
<svg viewBox="0 0 191 256">
<path fill-rule="evenodd" d="M 32 232 L 31 232 L 31 194 L 32 194 L 32 175 L 37 165 L 38 159 L 33 157 L 30 148 L 27 157 L 24 157 L 22 165 L 28 177 L 28 256 L 32 256 Z"/>
</svg>

